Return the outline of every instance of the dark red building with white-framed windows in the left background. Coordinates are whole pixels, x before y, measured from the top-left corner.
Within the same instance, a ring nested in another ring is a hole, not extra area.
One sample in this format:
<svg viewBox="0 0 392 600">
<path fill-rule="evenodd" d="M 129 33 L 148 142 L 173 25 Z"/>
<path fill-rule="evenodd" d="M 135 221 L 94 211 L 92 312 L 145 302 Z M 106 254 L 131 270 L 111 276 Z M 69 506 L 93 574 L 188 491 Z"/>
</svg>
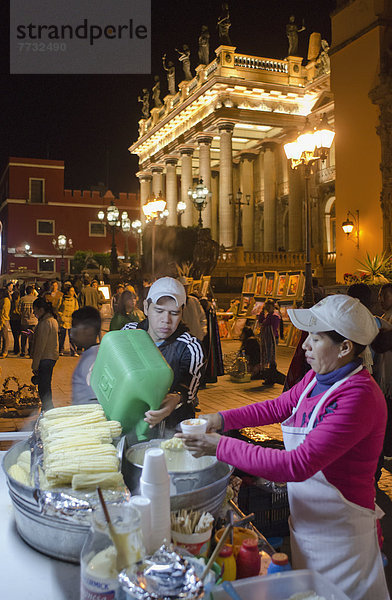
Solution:
<svg viewBox="0 0 392 600">
<path fill-rule="evenodd" d="M 136 194 L 115 198 L 110 191 L 102 196 L 98 191 L 65 190 L 63 161 L 10 158 L 0 179 L 1 274 L 55 277 L 62 266 L 69 273 L 77 250 L 110 252 L 111 232 L 98 211 L 112 201 L 131 221 L 140 217 Z M 53 245 L 59 234 L 72 239 L 72 249 L 63 257 Z M 136 252 L 136 238 L 117 233 L 120 257 L 127 244 L 129 253 Z"/>
</svg>

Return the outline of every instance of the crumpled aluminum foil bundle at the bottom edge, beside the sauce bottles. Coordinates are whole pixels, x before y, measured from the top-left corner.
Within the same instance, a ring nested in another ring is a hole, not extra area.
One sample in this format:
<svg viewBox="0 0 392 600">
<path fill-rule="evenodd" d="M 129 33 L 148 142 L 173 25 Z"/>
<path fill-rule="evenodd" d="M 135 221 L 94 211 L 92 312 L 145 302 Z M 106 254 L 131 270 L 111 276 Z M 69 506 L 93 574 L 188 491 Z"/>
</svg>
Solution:
<svg viewBox="0 0 392 600">
<path fill-rule="evenodd" d="M 127 597 L 135 600 L 197 600 L 204 596 L 194 566 L 167 546 L 147 558 L 142 570 L 122 571 L 119 581 Z"/>
</svg>

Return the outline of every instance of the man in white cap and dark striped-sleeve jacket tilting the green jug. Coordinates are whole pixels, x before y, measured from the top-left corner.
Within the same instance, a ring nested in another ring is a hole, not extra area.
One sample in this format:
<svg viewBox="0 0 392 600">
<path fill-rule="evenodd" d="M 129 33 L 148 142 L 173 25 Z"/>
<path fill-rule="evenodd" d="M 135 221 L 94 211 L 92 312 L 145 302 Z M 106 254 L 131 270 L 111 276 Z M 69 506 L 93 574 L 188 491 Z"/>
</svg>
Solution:
<svg viewBox="0 0 392 600">
<path fill-rule="evenodd" d="M 145 421 L 151 426 L 169 415 L 168 427 L 195 416 L 204 356 L 200 342 L 190 335 L 181 321 L 185 303 L 182 283 L 172 277 L 161 277 L 152 284 L 144 301 L 147 318 L 123 327 L 147 331 L 173 369 L 173 383 L 161 408 L 146 412 Z"/>
</svg>

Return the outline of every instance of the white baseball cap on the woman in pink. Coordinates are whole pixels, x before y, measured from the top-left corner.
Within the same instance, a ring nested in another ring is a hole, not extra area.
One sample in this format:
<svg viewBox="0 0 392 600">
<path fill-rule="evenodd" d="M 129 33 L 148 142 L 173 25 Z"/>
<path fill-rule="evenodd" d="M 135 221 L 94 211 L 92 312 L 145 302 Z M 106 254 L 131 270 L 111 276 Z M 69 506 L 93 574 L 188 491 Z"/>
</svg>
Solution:
<svg viewBox="0 0 392 600">
<path fill-rule="evenodd" d="M 378 334 L 376 319 L 358 298 L 344 294 L 327 296 L 312 308 L 289 308 L 297 329 L 312 333 L 336 331 L 346 340 L 367 346 Z"/>
</svg>

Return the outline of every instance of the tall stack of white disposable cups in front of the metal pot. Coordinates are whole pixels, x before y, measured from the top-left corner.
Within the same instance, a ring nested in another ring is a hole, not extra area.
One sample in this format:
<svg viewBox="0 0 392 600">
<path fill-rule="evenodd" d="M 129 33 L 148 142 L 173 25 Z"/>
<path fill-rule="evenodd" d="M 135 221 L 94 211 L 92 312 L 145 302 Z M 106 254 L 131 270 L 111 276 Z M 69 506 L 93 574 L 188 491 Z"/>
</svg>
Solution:
<svg viewBox="0 0 392 600">
<path fill-rule="evenodd" d="M 151 501 L 151 551 L 170 543 L 170 478 L 161 448 L 150 448 L 144 456 L 140 494 Z"/>
</svg>

